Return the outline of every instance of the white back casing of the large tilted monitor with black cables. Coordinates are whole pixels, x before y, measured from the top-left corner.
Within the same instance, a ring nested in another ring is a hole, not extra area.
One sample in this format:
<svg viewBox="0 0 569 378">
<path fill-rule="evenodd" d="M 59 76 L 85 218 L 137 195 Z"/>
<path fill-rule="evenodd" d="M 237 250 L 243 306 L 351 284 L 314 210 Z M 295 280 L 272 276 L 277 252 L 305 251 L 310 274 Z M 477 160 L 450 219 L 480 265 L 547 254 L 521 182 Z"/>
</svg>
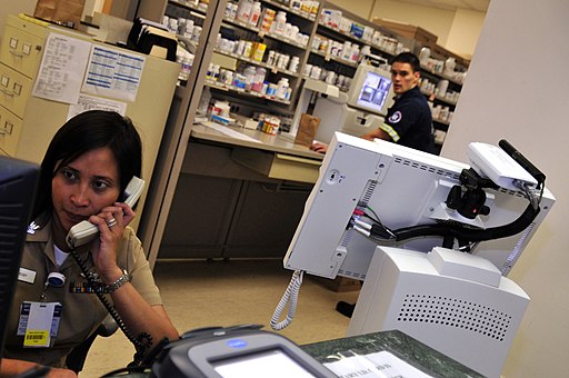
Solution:
<svg viewBox="0 0 569 378">
<path fill-rule="evenodd" d="M 473 229 L 492 230 L 525 212 L 529 200 L 518 191 L 503 189 L 485 189 L 487 216 L 466 219 L 449 210 L 445 205 L 449 192 L 468 168 L 396 143 L 337 132 L 284 257 L 284 267 L 327 278 L 365 280 L 378 245 L 429 252 L 443 241 L 437 236 L 393 241 L 388 231 L 385 241 L 378 241 L 361 232 L 372 223 L 371 219 L 389 230 L 457 221 Z M 470 251 L 508 275 L 553 202 L 546 189 L 541 210 L 526 229 L 472 243 Z"/>
</svg>

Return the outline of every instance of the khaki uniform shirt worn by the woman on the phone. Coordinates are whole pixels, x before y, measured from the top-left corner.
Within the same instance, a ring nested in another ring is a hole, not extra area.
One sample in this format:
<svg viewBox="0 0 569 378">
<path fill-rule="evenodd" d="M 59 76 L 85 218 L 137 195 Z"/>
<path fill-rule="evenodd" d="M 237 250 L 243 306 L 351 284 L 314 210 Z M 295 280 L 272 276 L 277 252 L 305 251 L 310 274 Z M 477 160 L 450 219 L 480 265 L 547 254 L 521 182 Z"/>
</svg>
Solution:
<svg viewBox="0 0 569 378">
<path fill-rule="evenodd" d="M 79 248 L 78 252 L 86 261 L 87 268 L 94 272 L 89 246 Z M 132 278 L 131 284 L 150 306 L 162 305 L 142 245 L 130 227 L 124 230 L 117 251 L 117 262 L 121 269 L 129 272 Z M 34 233 L 28 235 L 20 267 L 34 271 L 36 278 L 32 284 L 18 280 L 6 329 L 3 357 L 61 367 L 71 349 L 97 329 L 108 311 L 96 294 L 70 292 L 71 284 L 87 282 L 87 280 L 81 276 L 81 270 L 72 256 L 69 256 L 61 267 L 57 267 L 50 222 Z M 48 287 L 46 290 L 47 302 L 62 305 L 58 336 L 49 348 L 23 348 L 23 336 L 17 336 L 20 306 L 23 301 L 41 301 L 47 277 L 54 271 L 66 276 L 63 287 Z M 112 304 L 110 295 L 104 296 Z"/>
</svg>

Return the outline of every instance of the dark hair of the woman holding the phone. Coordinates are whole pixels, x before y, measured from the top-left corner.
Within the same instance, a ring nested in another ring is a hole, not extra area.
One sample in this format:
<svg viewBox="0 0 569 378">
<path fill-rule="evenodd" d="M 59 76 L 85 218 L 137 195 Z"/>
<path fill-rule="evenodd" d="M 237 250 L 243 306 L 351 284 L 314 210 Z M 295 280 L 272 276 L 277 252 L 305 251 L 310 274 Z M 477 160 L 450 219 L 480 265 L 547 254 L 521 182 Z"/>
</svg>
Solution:
<svg viewBox="0 0 569 378">
<path fill-rule="evenodd" d="M 90 110 L 67 121 L 51 140 L 41 162 L 38 196 L 31 219 L 51 215 L 51 180 L 57 170 L 81 155 L 108 147 L 119 166 L 120 192 L 142 170 L 142 143 L 132 121 L 113 111 Z M 118 198 L 122 200 L 122 198 Z"/>
</svg>

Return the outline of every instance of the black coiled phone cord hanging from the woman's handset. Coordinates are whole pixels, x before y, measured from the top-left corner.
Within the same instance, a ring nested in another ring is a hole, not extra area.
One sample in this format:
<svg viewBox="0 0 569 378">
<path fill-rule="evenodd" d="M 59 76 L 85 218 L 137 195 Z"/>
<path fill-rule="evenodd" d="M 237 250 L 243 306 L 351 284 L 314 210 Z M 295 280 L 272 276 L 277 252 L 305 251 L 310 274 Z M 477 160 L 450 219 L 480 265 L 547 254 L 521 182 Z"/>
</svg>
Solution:
<svg viewBox="0 0 569 378">
<path fill-rule="evenodd" d="M 79 265 L 79 269 L 81 269 L 81 272 L 84 275 L 89 285 L 92 285 L 94 287 L 97 285 L 97 282 L 94 281 L 93 272 L 91 272 L 87 268 L 87 266 L 84 265 L 84 261 L 81 260 L 81 258 L 79 257 L 79 255 L 77 253 L 77 251 L 74 249 L 71 250 L 71 256 L 73 256 L 73 258 L 76 259 L 77 263 Z M 139 366 L 141 364 L 141 361 L 143 360 L 144 355 L 150 349 L 150 346 L 152 345 L 152 337 L 150 335 L 148 335 L 147 332 L 142 332 L 138 338 L 134 337 L 134 335 L 132 335 L 130 329 L 128 329 L 127 326 L 124 325 L 124 321 L 120 317 L 117 309 L 109 302 L 109 300 L 103 296 L 103 294 L 100 292 L 99 290 L 96 290 L 94 294 L 97 295 L 97 297 L 99 298 L 101 304 L 104 306 L 107 311 L 109 311 L 112 319 L 114 319 L 114 321 L 117 322 L 117 326 L 119 326 L 119 328 L 122 330 L 124 336 L 129 339 L 130 342 L 132 342 L 134 345 L 134 349 L 137 350 L 137 352 L 133 356 L 133 361 L 130 362 L 129 366 Z"/>
</svg>

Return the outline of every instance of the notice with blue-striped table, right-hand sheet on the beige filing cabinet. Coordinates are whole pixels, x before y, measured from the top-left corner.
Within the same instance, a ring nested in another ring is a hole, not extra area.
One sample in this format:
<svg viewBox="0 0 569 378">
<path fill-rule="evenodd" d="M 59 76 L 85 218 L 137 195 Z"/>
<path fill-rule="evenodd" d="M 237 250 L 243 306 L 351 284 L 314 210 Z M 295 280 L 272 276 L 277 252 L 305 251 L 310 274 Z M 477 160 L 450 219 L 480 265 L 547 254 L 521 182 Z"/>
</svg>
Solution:
<svg viewBox="0 0 569 378">
<path fill-rule="evenodd" d="M 82 91 L 132 102 L 144 61 L 144 57 L 122 49 L 93 44 Z"/>
</svg>

